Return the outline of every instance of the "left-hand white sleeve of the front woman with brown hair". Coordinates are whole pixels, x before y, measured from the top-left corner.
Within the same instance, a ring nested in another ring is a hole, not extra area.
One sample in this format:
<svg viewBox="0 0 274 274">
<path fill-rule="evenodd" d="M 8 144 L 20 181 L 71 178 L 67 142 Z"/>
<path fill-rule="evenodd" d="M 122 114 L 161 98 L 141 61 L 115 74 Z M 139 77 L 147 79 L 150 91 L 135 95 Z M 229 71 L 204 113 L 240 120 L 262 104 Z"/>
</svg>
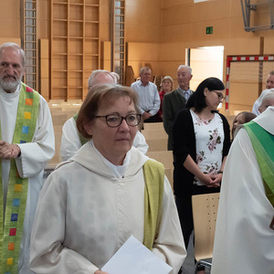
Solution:
<svg viewBox="0 0 274 274">
<path fill-rule="evenodd" d="M 92 274 L 99 269 L 87 258 L 63 245 L 66 240 L 66 192 L 67 184 L 62 182 L 60 175 L 49 175 L 40 192 L 29 257 L 30 269 L 35 273 Z"/>
</svg>

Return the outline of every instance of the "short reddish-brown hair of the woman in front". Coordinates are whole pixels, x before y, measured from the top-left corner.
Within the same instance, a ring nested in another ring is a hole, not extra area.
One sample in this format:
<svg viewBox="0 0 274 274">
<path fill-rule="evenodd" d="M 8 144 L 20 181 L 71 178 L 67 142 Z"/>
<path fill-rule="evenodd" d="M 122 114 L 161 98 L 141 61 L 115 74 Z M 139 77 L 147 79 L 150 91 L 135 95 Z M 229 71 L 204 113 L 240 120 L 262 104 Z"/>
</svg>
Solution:
<svg viewBox="0 0 274 274">
<path fill-rule="evenodd" d="M 121 97 L 129 97 L 136 112 L 139 113 L 138 95 L 131 88 L 115 84 L 102 84 L 92 87 L 79 110 L 77 118 L 77 128 L 79 132 L 87 139 L 92 138 L 92 136 L 86 132 L 85 124 L 95 119 L 100 107 L 111 105 L 114 100 Z"/>
</svg>

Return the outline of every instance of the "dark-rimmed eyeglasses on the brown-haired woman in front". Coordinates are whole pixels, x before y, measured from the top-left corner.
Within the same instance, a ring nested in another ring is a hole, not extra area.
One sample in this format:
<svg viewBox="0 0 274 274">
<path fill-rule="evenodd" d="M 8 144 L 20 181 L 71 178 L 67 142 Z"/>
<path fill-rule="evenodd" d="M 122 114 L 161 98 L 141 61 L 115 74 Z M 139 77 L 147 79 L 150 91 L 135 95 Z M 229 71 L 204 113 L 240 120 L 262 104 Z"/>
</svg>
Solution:
<svg viewBox="0 0 274 274">
<path fill-rule="evenodd" d="M 110 115 L 102 115 L 102 116 L 95 116 L 95 118 L 104 117 L 106 119 L 106 123 L 111 128 L 116 128 L 121 125 L 123 120 L 131 127 L 136 127 L 141 121 L 142 114 L 129 114 L 125 117 L 122 117 L 118 114 L 110 114 Z"/>
</svg>

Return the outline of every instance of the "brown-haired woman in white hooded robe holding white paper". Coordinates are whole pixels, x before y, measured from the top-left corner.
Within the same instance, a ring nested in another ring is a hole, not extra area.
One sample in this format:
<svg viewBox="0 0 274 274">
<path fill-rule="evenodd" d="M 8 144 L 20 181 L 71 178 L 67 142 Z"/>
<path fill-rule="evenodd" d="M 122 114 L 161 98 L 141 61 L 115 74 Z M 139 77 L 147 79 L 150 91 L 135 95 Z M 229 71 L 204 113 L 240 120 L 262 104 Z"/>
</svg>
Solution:
<svg viewBox="0 0 274 274">
<path fill-rule="evenodd" d="M 132 147 L 141 116 L 130 88 L 90 90 L 77 126 L 91 139 L 48 176 L 39 197 L 33 271 L 106 273 L 100 269 L 133 236 L 177 274 L 185 248 L 173 191 L 163 165 Z"/>
</svg>

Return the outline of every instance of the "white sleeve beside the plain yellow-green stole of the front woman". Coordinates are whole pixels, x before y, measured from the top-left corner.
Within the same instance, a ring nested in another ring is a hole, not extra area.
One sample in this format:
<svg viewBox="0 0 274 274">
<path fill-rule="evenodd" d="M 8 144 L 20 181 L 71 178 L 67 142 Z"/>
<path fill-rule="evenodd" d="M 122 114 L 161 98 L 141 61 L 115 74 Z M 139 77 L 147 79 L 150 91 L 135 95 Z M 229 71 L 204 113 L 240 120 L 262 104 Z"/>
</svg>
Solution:
<svg viewBox="0 0 274 274">
<path fill-rule="evenodd" d="M 172 274 L 177 274 L 183 265 L 186 250 L 173 190 L 165 176 L 159 227 L 158 236 L 153 243 L 153 253 L 173 268 Z"/>
</svg>

